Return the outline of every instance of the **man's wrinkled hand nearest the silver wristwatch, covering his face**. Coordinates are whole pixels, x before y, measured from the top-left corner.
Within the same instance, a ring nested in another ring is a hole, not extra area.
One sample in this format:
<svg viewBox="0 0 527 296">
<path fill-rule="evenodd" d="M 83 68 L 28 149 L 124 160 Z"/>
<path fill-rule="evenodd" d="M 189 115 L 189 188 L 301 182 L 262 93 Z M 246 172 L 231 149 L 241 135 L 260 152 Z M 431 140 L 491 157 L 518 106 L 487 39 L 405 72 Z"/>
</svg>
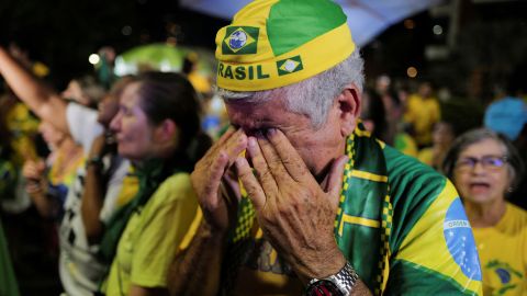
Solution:
<svg viewBox="0 0 527 296">
<path fill-rule="evenodd" d="M 249 137 L 247 151 L 256 177 L 244 158 L 237 158 L 236 168 L 265 237 L 304 281 L 337 273 L 346 261 L 334 221 L 347 157 L 334 161 L 321 187 L 278 129 Z"/>
</svg>

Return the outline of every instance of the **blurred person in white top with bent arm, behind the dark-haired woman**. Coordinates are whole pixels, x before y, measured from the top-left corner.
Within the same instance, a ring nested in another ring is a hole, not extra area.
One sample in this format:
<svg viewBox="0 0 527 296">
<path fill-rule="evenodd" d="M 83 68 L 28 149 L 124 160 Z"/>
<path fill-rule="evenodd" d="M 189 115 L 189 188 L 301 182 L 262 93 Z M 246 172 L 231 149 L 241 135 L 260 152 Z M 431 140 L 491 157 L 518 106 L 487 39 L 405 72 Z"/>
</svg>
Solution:
<svg viewBox="0 0 527 296">
<path fill-rule="evenodd" d="M 105 132 L 93 139 L 86 167 L 77 172 L 66 200 L 59 229 L 59 274 L 68 295 L 92 295 L 98 291 L 109 269 L 109 263 L 98 255 L 105 225 L 137 193 L 137 177 L 130 161 L 117 153 L 115 135 L 109 128 L 122 91 L 132 80 L 117 80 L 99 103 L 97 122 Z"/>
</svg>

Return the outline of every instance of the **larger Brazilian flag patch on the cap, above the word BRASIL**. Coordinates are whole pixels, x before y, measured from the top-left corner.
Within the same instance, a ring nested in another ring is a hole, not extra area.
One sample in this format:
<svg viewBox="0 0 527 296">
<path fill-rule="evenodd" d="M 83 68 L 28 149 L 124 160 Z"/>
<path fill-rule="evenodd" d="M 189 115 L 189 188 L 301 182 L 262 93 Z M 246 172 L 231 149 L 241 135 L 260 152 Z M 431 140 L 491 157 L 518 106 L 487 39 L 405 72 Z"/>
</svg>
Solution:
<svg viewBox="0 0 527 296">
<path fill-rule="evenodd" d="M 259 29 L 255 26 L 229 26 L 222 43 L 224 55 L 256 54 Z"/>
</svg>

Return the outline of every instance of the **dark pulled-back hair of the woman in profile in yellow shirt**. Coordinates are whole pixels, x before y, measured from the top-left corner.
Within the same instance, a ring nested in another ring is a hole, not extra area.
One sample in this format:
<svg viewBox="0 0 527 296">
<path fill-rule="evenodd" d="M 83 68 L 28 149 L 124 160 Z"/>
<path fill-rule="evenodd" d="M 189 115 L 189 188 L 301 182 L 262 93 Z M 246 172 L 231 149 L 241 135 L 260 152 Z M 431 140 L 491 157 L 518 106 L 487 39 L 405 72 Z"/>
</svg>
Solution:
<svg viewBox="0 0 527 296">
<path fill-rule="evenodd" d="M 171 119 L 179 128 L 176 155 L 193 166 L 209 149 L 212 140 L 201 130 L 201 104 L 192 84 L 173 72 L 144 72 L 139 82 L 141 107 L 153 125 Z"/>
</svg>

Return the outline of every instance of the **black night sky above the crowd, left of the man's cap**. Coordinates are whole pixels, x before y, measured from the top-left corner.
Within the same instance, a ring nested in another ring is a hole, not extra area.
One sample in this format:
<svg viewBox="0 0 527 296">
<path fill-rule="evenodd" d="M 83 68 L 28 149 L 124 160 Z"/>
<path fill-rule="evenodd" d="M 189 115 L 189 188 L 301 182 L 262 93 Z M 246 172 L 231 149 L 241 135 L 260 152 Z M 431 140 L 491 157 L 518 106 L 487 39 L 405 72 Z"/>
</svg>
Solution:
<svg viewBox="0 0 527 296">
<path fill-rule="evenodd" d="M 90 71 L 88 56 L 111 45 L 117 54 L 165 42 L 213 49 L 215 32 L 227 24 L 179 7 L 177 0 L 1 0 L 0 43 L 25 48 L 52 68 L 57 87 Z M 123 35 L 123 27 L 132 27 Z"/>
</svg>

